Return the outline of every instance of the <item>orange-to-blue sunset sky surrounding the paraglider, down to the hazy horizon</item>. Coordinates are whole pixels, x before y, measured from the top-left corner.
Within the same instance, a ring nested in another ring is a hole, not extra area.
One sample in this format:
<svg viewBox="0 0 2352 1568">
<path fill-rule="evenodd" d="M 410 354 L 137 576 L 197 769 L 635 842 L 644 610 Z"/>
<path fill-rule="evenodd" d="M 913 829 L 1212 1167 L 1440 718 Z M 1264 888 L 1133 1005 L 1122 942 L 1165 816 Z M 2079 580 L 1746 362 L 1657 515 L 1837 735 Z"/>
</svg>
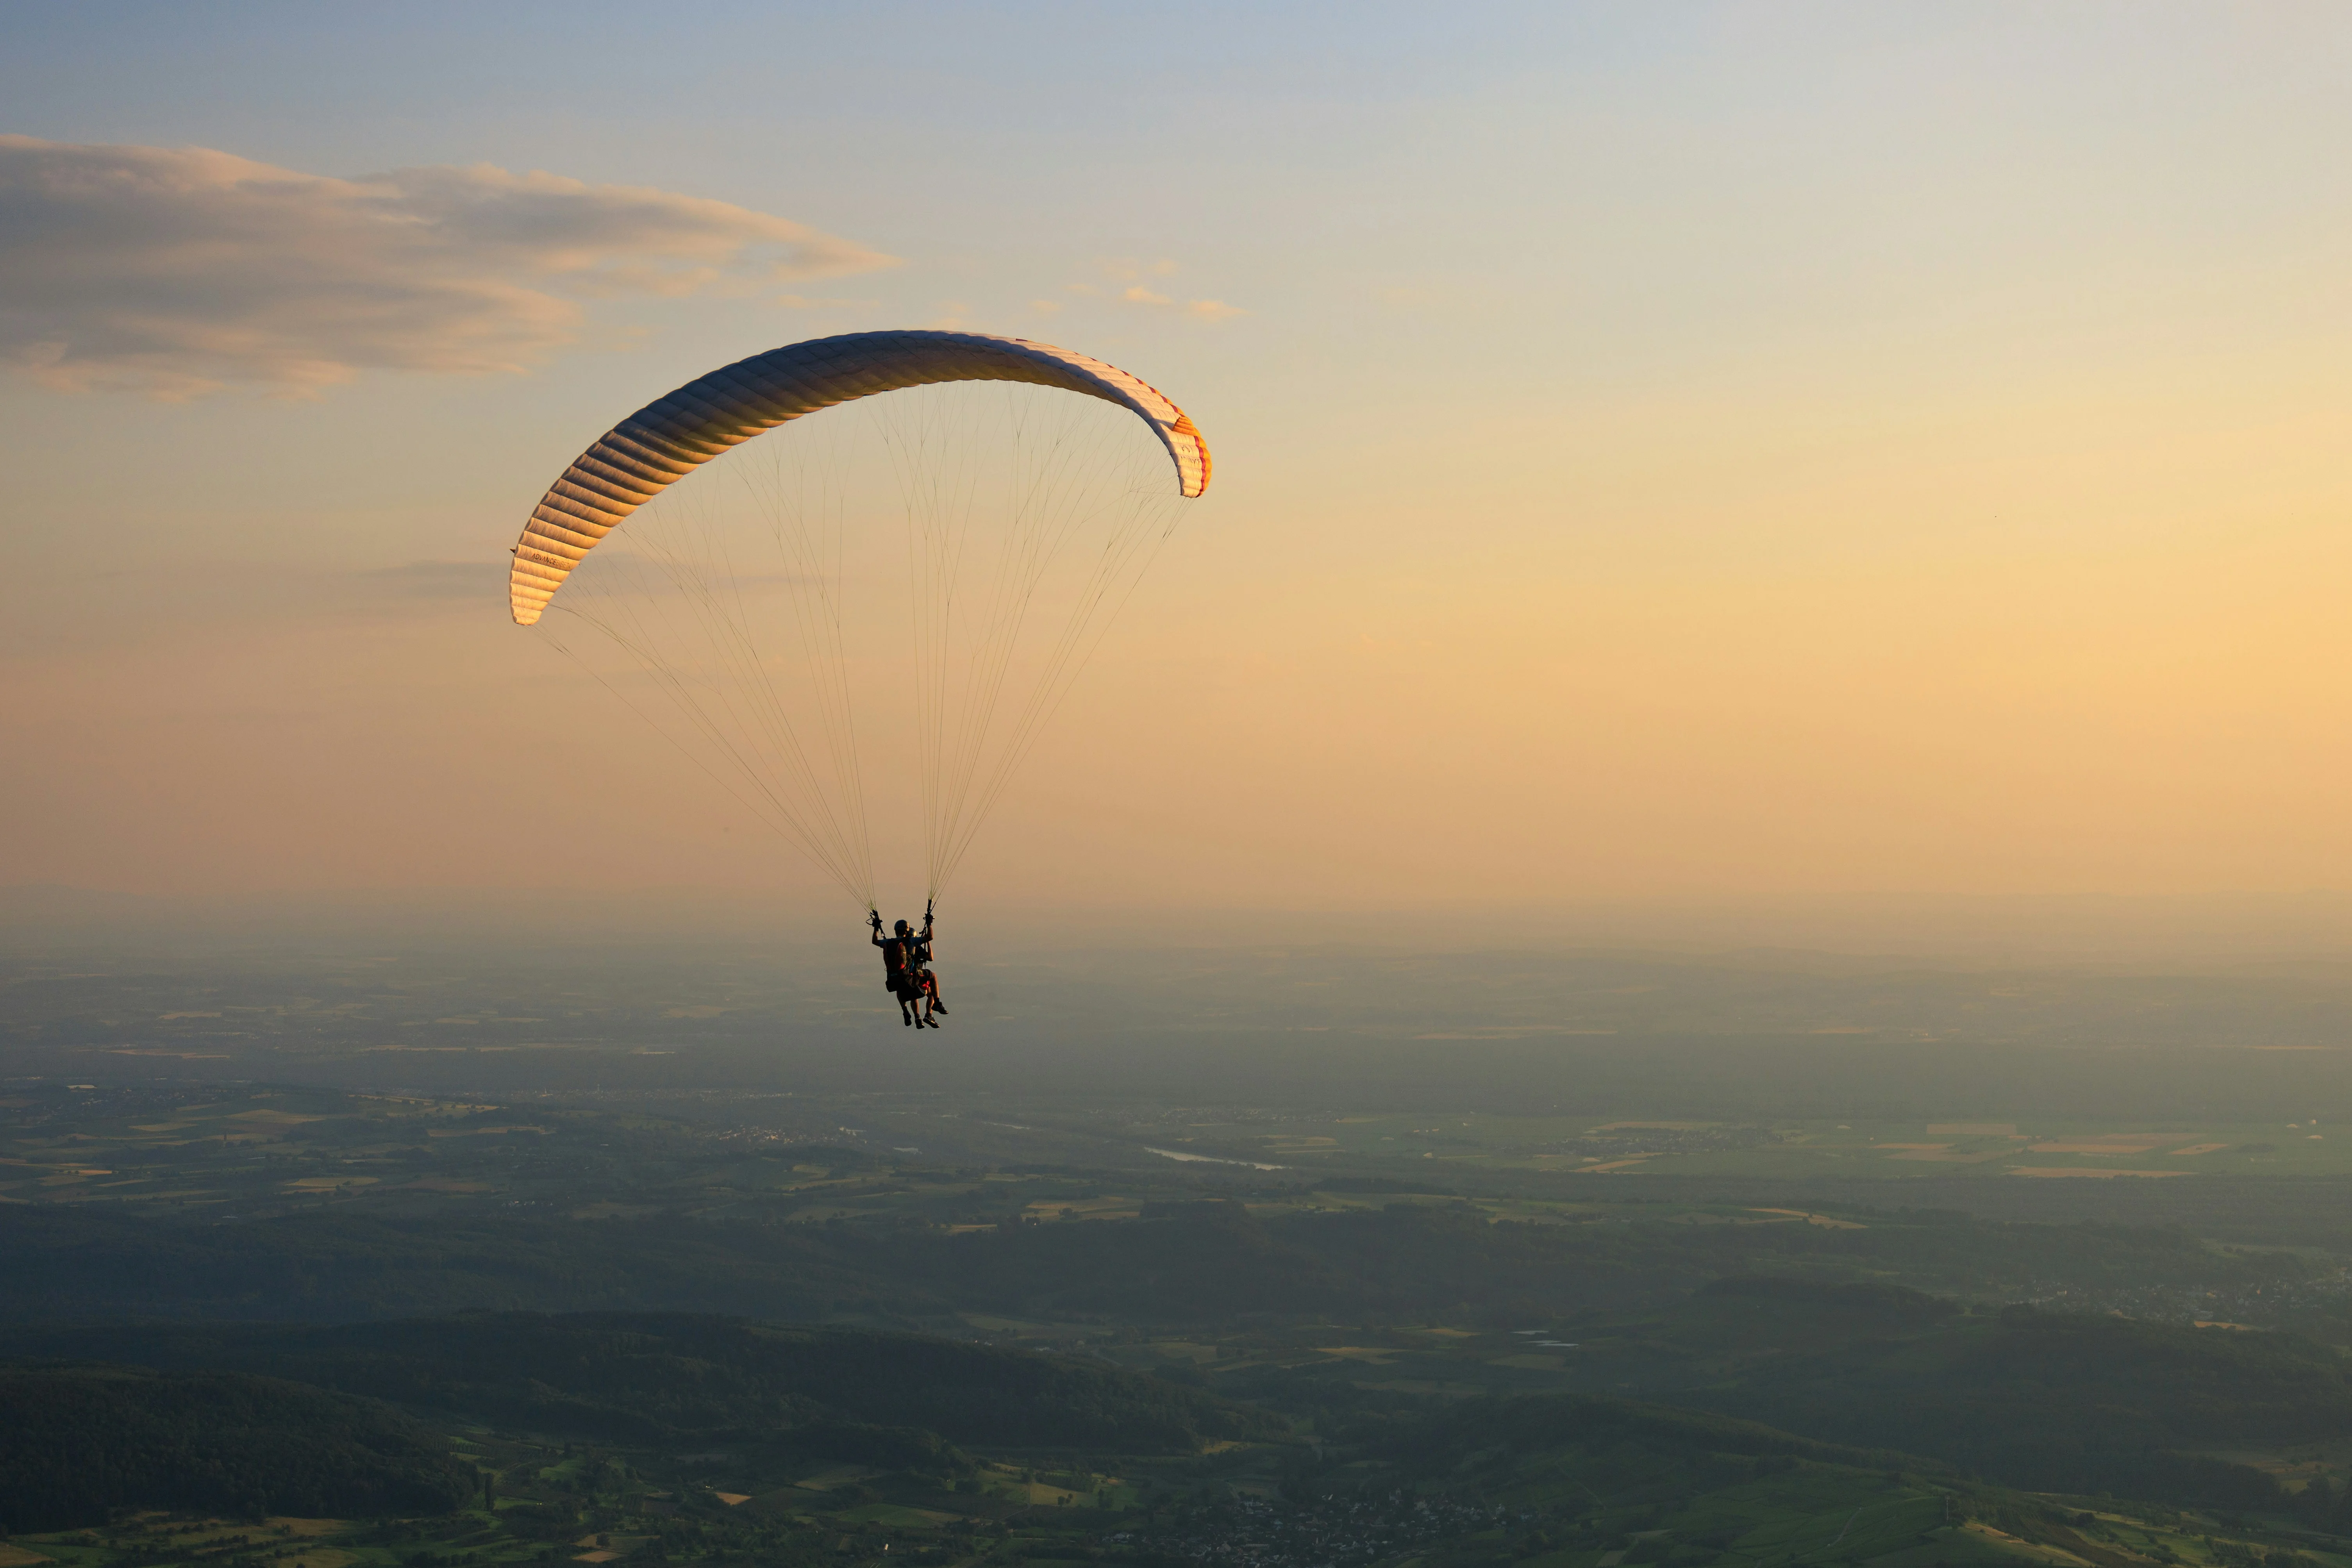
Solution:
<svg viewBox="0 0 2352 1568">
<path fill-rule="evenodd" d="M 0 884 L 837 903 L 506 550 L 960 324 L 1216 451 L 974 903 L 2352 889 L 2345 80 L 2336 2 L 16 7 Z"/>
</svg>

